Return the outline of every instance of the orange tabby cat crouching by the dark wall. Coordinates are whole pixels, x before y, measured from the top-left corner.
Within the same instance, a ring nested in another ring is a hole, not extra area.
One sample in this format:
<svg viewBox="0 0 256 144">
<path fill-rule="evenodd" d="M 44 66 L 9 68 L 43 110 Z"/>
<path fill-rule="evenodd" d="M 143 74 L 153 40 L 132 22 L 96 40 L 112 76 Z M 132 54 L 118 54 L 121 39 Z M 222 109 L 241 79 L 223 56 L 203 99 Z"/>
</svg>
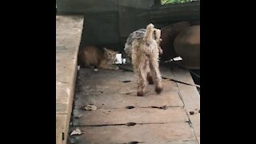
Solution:
<svg viewBox="0 0 256 144">
<path fill-rule="evenodd" d="M 114 61 L 118 51 L 103 47 L 103 51 L 96 46 L 85 46 L 78 53 L 78 65 L 99 69 L 118 70 L 118 66 L 114 66 Z"/>
</svg>

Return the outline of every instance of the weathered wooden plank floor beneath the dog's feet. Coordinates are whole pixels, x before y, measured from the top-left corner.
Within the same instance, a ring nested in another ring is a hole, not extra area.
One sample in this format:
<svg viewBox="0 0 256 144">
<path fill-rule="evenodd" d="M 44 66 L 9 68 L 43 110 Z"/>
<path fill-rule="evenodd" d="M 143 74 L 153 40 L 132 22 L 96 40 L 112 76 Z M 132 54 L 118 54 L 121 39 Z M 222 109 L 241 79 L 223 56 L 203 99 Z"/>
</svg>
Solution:
<svg viewBox="0 0 256 144">
<path fill-rule="evenodd" d="M 130 66 L 124 66 L 131 69 Z M 190 73 L 161 67 L 162 77 L 194 84 Z M 200 143 L 200 95 L 195 86 L 163 79 L 155 94 L 148 85 L 138 97 L 137 76 L 129 70 L 80 69 L 68 143 Z M 94 104 L 97 110 L 83 110 Z M 190 111 L 194 114 L 191 115 Z"/>
</svg>

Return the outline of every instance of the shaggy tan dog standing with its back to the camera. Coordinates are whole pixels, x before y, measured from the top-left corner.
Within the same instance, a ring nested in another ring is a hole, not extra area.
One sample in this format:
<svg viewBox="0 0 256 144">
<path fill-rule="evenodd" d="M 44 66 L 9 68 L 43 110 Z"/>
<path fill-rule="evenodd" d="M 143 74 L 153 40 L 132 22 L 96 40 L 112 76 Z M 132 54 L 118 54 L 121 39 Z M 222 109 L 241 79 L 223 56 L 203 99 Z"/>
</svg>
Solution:
<svg viewBox="0 0 256 144">
<path fill-rule="evenodd" d="M 138 96 L 143 96 L 146 90 L 146 81 L 154 83 L 155 92 L 162 91 L 162 77 L 159 71 L 159 53 L 162 49 L 161 30 L 155 29 L 153 24 L 146 26 L 145 34 L 142 38 L 133 38 L 130 50 L 125 48 L 126 53 L 130 52 L 134 72 L 138 74 Z"/>
</svg>

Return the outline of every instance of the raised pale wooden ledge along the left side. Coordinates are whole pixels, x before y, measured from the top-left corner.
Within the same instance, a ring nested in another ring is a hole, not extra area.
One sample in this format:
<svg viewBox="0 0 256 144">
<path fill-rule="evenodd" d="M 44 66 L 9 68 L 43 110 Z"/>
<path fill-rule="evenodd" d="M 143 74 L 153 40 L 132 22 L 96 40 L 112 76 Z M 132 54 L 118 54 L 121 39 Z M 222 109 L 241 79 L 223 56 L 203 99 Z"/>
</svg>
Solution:
<svg viewBox="0 0 256 144">
<path fill-rule="evenodd" d="M 66 143 L 83 16 L 56 16 L 56 143 Z"/>
</svg>

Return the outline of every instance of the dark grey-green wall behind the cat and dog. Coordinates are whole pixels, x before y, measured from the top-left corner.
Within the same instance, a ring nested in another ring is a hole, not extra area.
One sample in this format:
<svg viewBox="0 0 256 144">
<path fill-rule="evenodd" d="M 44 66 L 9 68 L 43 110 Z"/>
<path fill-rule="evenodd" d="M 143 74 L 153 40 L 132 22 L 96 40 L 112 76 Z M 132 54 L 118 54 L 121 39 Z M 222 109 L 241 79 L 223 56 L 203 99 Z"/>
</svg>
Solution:
<svg viewBox="0 0 256 144">
<path fill-rule="evenodd" d="M 84 14 L 81 46 L 122 50 L 127 36 L 150 21 L 154 0 L 57 0 L 58 14 Z"/>
</svg>

